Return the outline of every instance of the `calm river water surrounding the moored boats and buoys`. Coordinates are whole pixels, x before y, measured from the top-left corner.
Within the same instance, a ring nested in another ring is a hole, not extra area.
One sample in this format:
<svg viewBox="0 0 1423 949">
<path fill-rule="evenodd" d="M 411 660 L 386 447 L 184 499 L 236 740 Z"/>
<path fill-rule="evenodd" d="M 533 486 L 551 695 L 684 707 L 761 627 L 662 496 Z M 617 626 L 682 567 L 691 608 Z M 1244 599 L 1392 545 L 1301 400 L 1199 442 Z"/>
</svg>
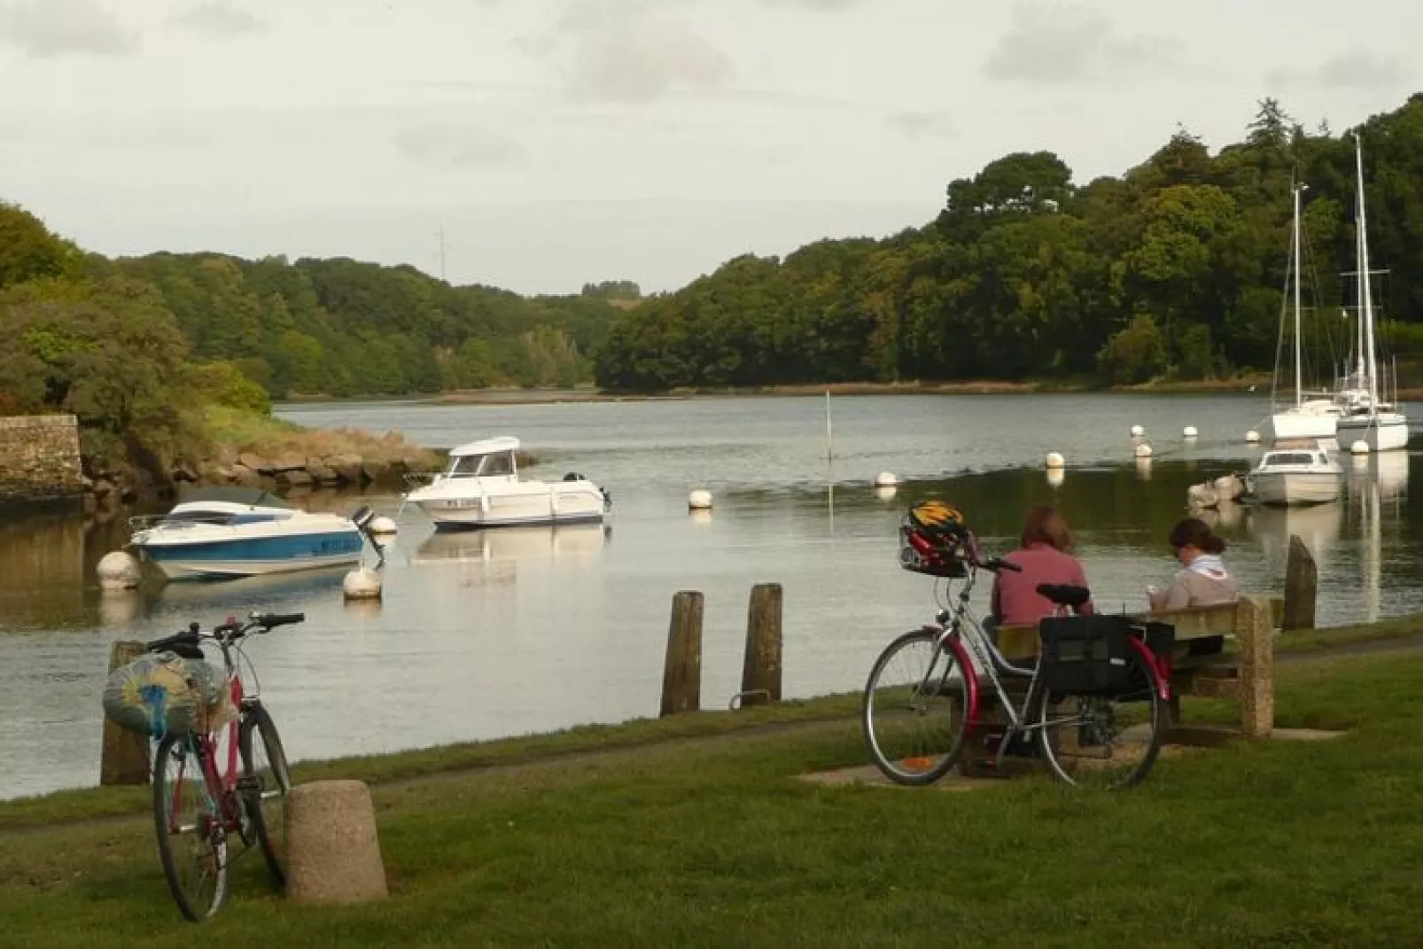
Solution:
<svg viewBox="0 0 1423 949">
<path fill-rule="evenodd" d="M 596 526 L 431 532 L 416 509 L 384 569 L 379 605 L 346 605 L 342 572 L 172 583 L 152 599 L 101 593 L 94 565 L 125 539 L 121 521 L 85 531 L 67 516 L 0 526 L 0 797 L 97 781 L 98 696 L 108 646 L 192 619 L 252 609 L 307 622 L 249 654 L 289 754 L 334 757 L 549 731 L 655 716 L 672 595 L 706 593 L 704 707 L 740 689 L 750 588 L 785 590 L 787 697 L 858 689 L 878 649 L 932 617 L 933 582 L 896 566 L 895 526 L 926 494 L 952 499 L 990 551 L 1007 549 L 1023 509 L 1054 502 L 1079 544 L 1097 602 L 1144 606 L 1175 568 L 1165 535 L 1188 485 L 1245 471 L 1264 400 L 1239 396 L 702 398 L 535 405 L 401 403 L 289 405 L 306 425 L 398 428 L 448 447 L 518 435 L 532 475 L 579 471 L 613 497 Z M 1154 460 L 1133 460 L 1147 428 Z M 1181 438 L 1184 425 L 1201 437 Z M 1067 457 L 1059 485 L 1049 451 Z M 1342 625 L 1423 612 L 1423 511 L 1412 457 L 1350 471 L 1348 497 L 1308 511 L 1231 508 L 1217 516 L 1245 590 L 1279 593 L 1291 534 L 1321 569 L 1319 619 Z M 906 479 L 892 497 L 877 472 Z M 716 507 L 690 515 L 687 492 Z M 306 497 L 314 508 L 393 495 Z M 983 596 L 976 602 L 982 606 Z"/>
</svg>

